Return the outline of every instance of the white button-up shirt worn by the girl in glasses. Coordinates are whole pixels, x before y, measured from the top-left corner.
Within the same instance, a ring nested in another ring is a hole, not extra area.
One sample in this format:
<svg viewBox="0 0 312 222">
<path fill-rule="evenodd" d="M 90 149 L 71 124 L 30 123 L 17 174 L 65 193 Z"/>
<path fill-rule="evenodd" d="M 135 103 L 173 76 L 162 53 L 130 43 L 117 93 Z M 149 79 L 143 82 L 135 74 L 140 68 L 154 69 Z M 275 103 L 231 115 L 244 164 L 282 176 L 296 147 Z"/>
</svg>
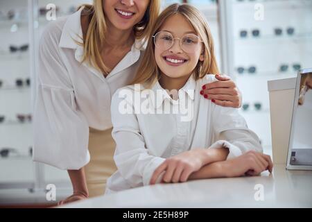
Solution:
<svg viewBox="0 0 312 222">
<path fill-rule="evenodd" d="M 237 109 L 215 105 L 200 95 L 202 85 L 215 80 L 213 75 L 197 81 L 189 78 L 178 92 L 178 101 L 171 99 L 158 82 L 152 89 L 141 91 L 142 96 L 135 94 L 139 91 L 133 85 L 117 90 L 112 98 L 112 136 L 118 170 L 108 179 L 106 194 L 148 185 L 166 158 L 193 148 L 227 147 L 227 158 L 249 150 L 262 152 L 259 138 Z M 157 92 L 162 96 L 156 98 Z M 187 98 L 185 107 L 191 105 L 193 114 L 180 109 L 183 96 Z M 145 107 L 149 111 L 144 111 Z M 166 107 L 179 112 L 164 113 Z"/>
</svg>

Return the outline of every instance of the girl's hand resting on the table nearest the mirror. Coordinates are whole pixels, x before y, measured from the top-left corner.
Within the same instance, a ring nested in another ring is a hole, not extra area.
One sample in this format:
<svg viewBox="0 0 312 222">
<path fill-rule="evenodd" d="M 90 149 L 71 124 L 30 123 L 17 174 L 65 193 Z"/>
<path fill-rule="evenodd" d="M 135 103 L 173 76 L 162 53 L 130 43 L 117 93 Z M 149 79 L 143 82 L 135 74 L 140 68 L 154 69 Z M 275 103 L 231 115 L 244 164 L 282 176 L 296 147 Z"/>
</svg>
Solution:
<svg viewBox="0 0 312 222">
<path fill-rule="evenodd" d="M 226 177 L 259 176 L 263 171 L 272 173 L 273 163 L 269 155 L 248 151 L 232 160 L 223 162 Z"/>
</svg>

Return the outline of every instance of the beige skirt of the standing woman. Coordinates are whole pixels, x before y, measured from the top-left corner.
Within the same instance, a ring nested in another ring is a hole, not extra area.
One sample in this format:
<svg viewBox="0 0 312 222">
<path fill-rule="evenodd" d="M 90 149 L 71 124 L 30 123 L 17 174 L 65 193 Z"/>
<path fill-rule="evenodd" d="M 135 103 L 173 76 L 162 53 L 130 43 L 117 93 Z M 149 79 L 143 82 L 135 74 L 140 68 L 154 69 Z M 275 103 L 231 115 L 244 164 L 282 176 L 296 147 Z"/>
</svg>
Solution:
<svg viewBox="0 0 312 222">
<path fill-rule="evenodd" d="M 109 130 L 89 130 L 89 153 L 91 160 L 85 166 L 89 197 L 105 193 L 106 180 L 116 171 L 114 163 L 115 142 L 112 139 L 112 128 Z"/>
</svg>

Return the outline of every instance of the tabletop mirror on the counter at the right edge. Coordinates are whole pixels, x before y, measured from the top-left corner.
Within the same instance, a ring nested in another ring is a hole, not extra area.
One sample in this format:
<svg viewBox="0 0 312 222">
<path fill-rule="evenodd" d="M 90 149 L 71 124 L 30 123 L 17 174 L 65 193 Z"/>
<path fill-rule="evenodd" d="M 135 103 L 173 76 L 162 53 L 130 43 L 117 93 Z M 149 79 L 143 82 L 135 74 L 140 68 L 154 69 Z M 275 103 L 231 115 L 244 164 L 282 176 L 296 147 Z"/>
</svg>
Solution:
<svg viewBox="0 0 312 222">
<path fill-rule="evenodd" d="M 312 170 L 312 69 L 297 76 L 286 168 Z"/>
</svg>

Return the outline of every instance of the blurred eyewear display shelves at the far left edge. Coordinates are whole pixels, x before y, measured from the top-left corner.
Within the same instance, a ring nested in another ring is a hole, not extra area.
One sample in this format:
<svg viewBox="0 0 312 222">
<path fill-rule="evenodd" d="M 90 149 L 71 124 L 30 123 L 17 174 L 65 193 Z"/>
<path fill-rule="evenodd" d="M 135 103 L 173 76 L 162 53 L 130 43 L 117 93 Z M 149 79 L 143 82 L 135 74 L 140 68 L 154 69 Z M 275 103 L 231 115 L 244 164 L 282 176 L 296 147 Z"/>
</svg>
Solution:
<svg viewBox="0 0 312 222">
<path fill-rule="evenodd" d="M 0 2 L 0 189 L 33 188 L 28 2 Z"/>
</svg>

